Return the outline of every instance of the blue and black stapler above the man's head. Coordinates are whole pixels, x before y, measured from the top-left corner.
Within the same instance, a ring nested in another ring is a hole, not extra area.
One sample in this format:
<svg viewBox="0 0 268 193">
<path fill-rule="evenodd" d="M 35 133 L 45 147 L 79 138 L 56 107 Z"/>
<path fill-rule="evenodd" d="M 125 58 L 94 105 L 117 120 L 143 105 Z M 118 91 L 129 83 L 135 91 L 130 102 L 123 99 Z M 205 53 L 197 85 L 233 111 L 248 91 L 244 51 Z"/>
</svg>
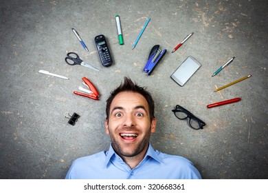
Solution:
<svg viewBox="0 0 268 193">
<path fill-rule="evenodd" d="M 144 72 L 146 72 L 148 75 L 150 75 L 159 61 L 164 57 L 166 54 L 166 49 L 160 50 L 159 45 L 154 45 L 152 50 L 150 50 L 150 54 L 148 57 L 148 61 L 146 65 L 144 66 Z"/>
</svg>

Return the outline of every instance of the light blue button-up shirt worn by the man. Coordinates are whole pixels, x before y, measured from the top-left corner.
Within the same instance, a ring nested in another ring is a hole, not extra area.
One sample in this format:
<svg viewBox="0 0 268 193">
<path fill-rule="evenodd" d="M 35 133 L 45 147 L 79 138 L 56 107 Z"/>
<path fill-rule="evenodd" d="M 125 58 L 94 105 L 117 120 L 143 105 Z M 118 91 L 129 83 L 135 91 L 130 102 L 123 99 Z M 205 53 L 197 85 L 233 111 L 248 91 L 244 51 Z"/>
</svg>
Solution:
<svg viewBox="0 0 268 193">
<path fill-rule="evenodd" d="M 65 179 L 201 179 L 201 175 L 188 159 L 164 154 L 151 145 L 131 169 L 110 145 L 109 151 L 76 159 Z"/>
</svg>

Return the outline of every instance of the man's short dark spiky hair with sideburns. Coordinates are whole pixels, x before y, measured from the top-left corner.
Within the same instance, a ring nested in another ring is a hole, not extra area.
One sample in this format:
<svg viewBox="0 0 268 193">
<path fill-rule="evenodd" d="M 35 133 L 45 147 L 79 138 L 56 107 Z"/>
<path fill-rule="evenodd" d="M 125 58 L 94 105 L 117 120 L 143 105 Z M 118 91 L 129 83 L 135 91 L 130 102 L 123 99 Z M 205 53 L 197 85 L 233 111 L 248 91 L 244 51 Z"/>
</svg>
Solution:
<svg viewBox="0 0 268 193">
<path fill-rule="evenodd" d="M 115 88 L 115 90 L 111 92 L 111 95 L 106 101 L 107 102 L 106 104 L 106 119 L 107 120 L 109 120 L 109 112 L 110 112 L 111 103 L 113 99 L 115 98 L 117 94 L 119 94 L 120 92 L 124 92 L 124 91 L 137 92 L 139 94 L 142 94 L 142 96 L 144 96 L 149 106 L 150 121 L 152 121 L 153 118 L 155 118 L 155 115 L 154 115 L 155 103 L 153 101 L 153 97 L 151 96 L 150 92 L 148 92 L 146 88 L 140 87 L 139 85 L 137 85 L 137 83 L 133 83 L 131 79 L 124 77 L 124 83 L 121 82 L 120 86 L 118 88 Z"/>
</svg>

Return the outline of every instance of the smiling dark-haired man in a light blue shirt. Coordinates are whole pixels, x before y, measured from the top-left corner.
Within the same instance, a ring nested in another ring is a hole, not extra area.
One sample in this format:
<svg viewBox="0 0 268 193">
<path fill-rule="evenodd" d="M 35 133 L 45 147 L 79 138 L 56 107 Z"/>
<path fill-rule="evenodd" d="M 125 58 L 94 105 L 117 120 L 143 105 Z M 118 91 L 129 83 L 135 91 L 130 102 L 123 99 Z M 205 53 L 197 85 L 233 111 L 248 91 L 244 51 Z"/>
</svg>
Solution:
<svg viewBox="0 0 268 193">
<path fill-rule="evenodd" d="M 65 179 L 201 179 L 188 159 L 150 145 L 154 109 L 150 93 L 125 77 L 107 99 L 109 150 L 76 159 Z"/>
</svg>

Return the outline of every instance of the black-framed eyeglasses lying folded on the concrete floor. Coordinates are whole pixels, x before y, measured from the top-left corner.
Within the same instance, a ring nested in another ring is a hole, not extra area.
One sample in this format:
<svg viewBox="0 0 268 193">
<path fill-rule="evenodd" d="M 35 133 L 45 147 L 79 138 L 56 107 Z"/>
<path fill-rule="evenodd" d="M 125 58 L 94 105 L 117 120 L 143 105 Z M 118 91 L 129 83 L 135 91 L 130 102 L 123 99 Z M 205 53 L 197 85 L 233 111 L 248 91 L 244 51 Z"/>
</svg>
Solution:
<svg viewBox="0 0 268 193">
<path fill-rule="evenodd" d="M 197 116 L 194 116 L 192 113 L 190 113 L 188 110 L 181 107 L 180 105 L 176 105 L 175 110 L 172 110 L 172 112 L 174 112 L 175 116 L 178 119 L 183 120 L 189 118 L 188 123 L 190 127 L 193 128 L 194 130 L 203 129 L 203 126 L 205 126 L 205 122 L 198 119 Z"/>
</svg>

